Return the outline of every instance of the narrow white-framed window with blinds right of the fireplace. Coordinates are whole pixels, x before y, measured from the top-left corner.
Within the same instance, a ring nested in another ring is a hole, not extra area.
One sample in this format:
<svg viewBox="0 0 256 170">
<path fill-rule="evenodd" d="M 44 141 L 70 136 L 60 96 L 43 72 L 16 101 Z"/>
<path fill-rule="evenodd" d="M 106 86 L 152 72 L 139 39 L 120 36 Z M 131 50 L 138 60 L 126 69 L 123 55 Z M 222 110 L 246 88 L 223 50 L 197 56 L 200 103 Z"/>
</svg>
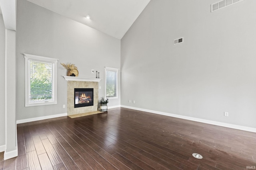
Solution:
<svg viewBox="0 0 256 170">
<path fill-rule="evenodd" d="M 118 69 L 105 68 L 105 92 L 106 98 L 118 97 Z"/>
</svg>

